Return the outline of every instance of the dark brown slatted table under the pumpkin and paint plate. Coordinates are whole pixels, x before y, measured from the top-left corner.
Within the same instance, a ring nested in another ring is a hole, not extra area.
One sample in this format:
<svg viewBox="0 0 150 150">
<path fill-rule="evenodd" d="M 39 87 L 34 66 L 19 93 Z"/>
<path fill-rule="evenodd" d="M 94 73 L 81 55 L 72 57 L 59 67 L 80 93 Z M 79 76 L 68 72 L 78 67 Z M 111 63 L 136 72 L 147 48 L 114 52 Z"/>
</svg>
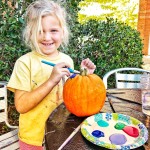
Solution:
<svg viewBox="0 0 150 150">
<path fill-rule="evenodd" d="M 149 139 L 143 146 L 135 150 L 150 150 L 150 117 L 142 113 L 141 90 L 108 90 L 107 99 L 101 112 L 122 113 L 145 124 L 149 132 Z M 64 104 L 56 108 L 46 123 L 46 150 L 57 150 L 84 119 L 84 117 L 79 118 L 68 112 Z M 107 150 L 107 148 L 89 142 L 79 130 L 63 150 Z"/>
</svg>

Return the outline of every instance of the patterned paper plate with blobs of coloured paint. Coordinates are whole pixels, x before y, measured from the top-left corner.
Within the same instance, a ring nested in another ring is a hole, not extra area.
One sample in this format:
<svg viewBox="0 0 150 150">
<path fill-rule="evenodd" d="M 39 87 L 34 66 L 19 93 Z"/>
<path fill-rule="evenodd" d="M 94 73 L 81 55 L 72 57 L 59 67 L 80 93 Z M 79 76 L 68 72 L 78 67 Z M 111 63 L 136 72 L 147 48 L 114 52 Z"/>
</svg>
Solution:
<svg viewBox="0 0 150 150">
<path fill-rule="evenodd" d="M 118 113 L 99 113 L 81 125 L 82 135 L 108 149 L 134 149 L 148 140 L 148 130 L 139 120 Z"/>
</svg>

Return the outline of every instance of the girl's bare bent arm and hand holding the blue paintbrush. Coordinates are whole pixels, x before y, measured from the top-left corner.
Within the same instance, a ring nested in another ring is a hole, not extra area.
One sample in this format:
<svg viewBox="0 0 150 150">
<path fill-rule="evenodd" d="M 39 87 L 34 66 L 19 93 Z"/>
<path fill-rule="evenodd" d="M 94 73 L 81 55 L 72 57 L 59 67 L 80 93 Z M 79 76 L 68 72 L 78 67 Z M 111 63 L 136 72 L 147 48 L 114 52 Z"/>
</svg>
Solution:
<svg viewBox="0 0 150 150">
<path fill-rule="evenodd" d="M 65 67 L 70 67 L 66 63 L 59 63 L 54 68 L 50 78 L 42 85 L 31 92 L 15 90 L 15 106 L 19 113 L 26 113 L 37 106 L 59 83 L 63 76 L 70 76 L 70 72 Z M 42 78 L 42 77 L 41 77 Z"/>
</svg>

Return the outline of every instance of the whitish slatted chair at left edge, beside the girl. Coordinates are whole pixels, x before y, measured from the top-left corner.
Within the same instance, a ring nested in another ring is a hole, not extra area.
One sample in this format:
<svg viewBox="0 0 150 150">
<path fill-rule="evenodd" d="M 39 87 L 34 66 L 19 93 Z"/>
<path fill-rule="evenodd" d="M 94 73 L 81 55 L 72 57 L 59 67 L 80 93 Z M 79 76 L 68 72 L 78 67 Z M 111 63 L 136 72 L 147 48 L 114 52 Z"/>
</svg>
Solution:
<svg viewBox="0 0 150 150">
<path fill-rule="evenodd" d="M 7 82 L 0 81 L 0 123 L 5 124 L 14 130 L 0 135 L 0 150 L 19 149 L 18 126 L 12 126 L 8 122 L 7 112 Z"/>
</svg>

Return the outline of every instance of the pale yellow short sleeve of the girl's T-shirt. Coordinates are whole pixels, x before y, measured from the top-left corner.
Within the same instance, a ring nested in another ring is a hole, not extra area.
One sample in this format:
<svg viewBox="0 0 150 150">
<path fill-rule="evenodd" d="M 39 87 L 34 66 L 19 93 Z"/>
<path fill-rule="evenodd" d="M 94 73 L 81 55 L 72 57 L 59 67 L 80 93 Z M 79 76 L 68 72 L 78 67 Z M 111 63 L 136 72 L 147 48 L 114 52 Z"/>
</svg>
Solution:
<svg viewBox="0 0 150 150">
<path fill-rule="evenodd" d="M 7 88 L 12 92 L 15 92 L 15 89 L 30 91 L 30 67 L 29 63 L 24 61 L 17 60 L 8 82 Z"/>
</svg>

